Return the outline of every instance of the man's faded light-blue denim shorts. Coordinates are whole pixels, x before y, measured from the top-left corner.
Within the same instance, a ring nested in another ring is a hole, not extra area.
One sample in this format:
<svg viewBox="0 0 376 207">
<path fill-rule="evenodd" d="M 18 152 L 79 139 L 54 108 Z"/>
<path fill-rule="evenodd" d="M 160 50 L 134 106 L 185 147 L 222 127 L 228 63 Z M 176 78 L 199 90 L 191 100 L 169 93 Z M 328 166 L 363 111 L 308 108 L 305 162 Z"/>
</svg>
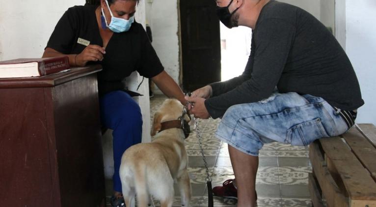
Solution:
<svg viewBox="0 0 376 207">
<path fill-rule="evenodd" d="M 268 99 L 230 107 L 215 135 L 244 153 L 258 156 L 265 143 L 306 146 L 348 129 L 344 119 L 321 97 L 275 92 Z"/>
</svg>

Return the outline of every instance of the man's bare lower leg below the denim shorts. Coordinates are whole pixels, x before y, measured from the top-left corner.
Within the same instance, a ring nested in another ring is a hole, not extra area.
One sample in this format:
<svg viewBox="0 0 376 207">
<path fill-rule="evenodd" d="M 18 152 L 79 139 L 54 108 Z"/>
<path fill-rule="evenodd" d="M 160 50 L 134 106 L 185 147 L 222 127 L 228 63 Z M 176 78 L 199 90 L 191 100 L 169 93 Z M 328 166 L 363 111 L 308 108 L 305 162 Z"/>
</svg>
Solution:
<svg viewBox="0 0 376 207">
<path fill-rule="evenodd" d="M 256 174 L 259 157 L 246 154 L 231 146 L 228 146 L 228 151 L 237 180 L 238 207 L 253 207 L 256 205 Z"/>
</svg>

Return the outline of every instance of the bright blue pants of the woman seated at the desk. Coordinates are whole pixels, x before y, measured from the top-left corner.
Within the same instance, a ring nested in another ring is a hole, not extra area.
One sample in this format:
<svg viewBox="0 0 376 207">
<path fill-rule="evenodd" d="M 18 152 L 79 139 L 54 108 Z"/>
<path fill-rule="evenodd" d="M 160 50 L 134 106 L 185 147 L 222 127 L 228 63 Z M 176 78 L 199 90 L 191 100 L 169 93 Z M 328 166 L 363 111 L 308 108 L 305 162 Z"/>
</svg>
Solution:
<svg viewBox="0 0 376 207">
<path fill-rule="evenodd" d="M 141 143 L 141 109 L 128 93 L 118 90 L 100 98 L 100 111 L 102 125 L 113 130 L 113 189 L 121 192 L 121 157 L 127 148 Z"/>
</svg>

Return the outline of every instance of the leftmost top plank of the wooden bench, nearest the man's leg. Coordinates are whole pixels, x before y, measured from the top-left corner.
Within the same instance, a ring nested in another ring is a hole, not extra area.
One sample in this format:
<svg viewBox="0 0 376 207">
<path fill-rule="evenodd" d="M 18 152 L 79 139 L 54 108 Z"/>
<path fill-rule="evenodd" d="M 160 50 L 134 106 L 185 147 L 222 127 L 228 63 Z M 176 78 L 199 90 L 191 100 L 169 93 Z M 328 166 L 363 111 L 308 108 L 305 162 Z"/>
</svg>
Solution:
<svg viewBox="0 0 376 207">
<path fill-rule="evenodd" d="M 325 154 L 342 178 L 353 200 L 376 200 L 376 185 L 369 172 L 340 137 L 320 139 Z"/>
</svg>

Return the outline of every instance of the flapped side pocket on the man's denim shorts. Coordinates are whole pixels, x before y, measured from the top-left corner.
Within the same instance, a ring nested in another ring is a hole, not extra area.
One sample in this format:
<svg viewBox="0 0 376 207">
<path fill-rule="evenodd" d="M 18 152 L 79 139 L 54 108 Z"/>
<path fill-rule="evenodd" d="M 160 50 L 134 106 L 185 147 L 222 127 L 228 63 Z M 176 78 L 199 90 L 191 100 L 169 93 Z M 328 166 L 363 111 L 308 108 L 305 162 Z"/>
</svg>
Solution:
<svg viewBox="0 0 376 207">
<path fill-rule="evenodd" d="M 293 146 L 307 146 L 311 142 L 322 137 L 329 136 L 322 126 L 321 119 L 316 118 L 288 129 L 286 142 Z"/>
</svg>

